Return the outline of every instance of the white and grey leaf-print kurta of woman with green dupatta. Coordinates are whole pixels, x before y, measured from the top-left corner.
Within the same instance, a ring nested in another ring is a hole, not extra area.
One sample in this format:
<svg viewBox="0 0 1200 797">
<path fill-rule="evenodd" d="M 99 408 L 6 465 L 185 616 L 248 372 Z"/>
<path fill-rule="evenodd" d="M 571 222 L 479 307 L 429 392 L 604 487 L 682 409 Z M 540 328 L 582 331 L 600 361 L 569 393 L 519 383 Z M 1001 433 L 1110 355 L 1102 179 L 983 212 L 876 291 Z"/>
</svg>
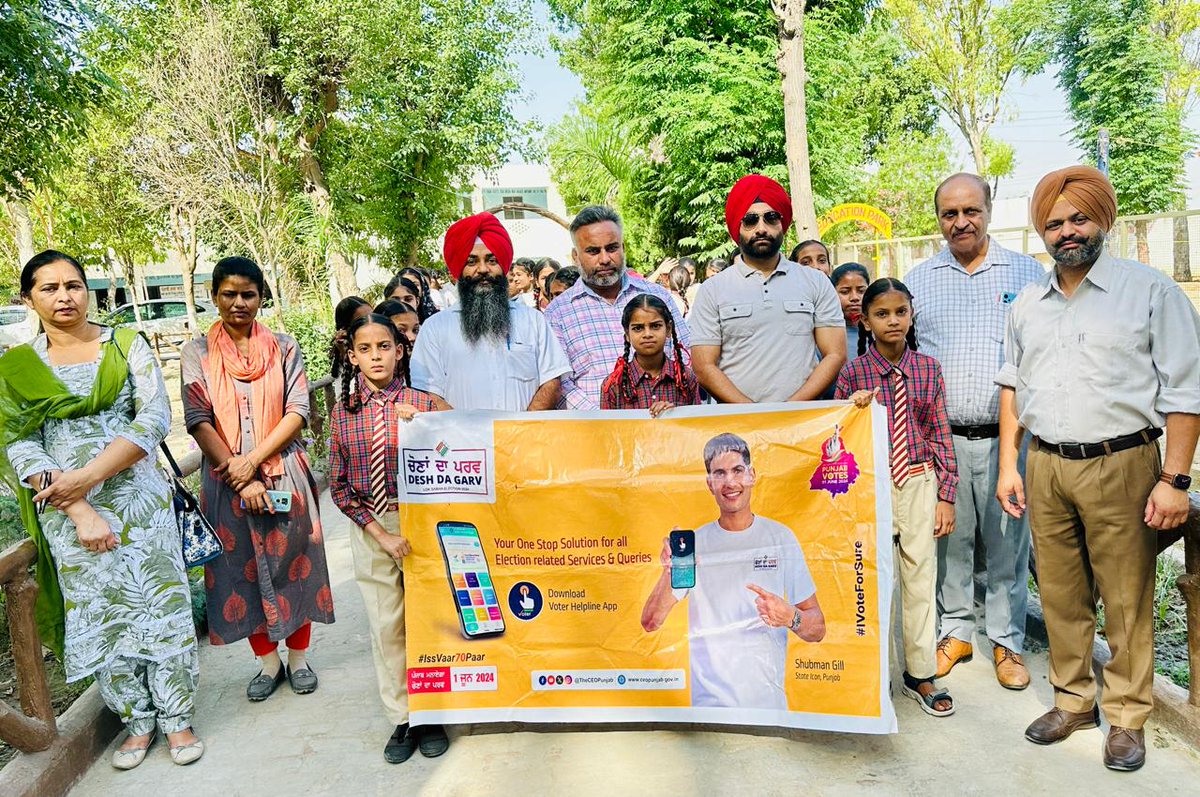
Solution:
<svg viewBox="0 0 1200 797">
<path fill-rule="evenodd" d="M 103 330 L 102 340 L 110 337 L 112 330 Z M 38 335 L 32 346 L 49 364 L 46 336 Z M 149 454 L 88 493 L 88 503 L 120 539 L 115 550 L 94 553 L 84 549 L 66 515 L 53 507 L 42 513 L 42 532 L 66 604 L 67 681 L 92 675 L 118 659 L 162 664 L 196 647 L 173 491 L 157 465 L 158 444 L 170 429 L 170 402 L 158 364 L 142 337 L 133 340 L 127 359 L 130 378 L 112 407 L 86 418 L 48 419 L 40 431 L 8 447 L 8 459 L 23 481 L 42 471 L 80 468 L 116 437 Z M 53 366 L 76 395 L 91 392 L 98 370 L 98 359 Z"/>
</svg>

